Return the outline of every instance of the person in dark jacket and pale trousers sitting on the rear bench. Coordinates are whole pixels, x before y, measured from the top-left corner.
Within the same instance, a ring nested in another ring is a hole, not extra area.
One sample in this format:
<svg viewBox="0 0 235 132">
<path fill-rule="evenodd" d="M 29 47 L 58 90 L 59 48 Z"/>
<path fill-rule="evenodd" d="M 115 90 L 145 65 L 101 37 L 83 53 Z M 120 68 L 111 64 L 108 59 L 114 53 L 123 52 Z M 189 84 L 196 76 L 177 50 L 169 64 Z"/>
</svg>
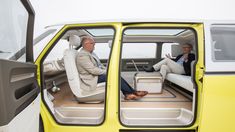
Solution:
<svg viewBox="0 0 235 132">
<path fill-rule="evenodd" d="M 191 75 L 191 62 L 195 60 L 195 55 L 191 53 L 192 45 L 189 43 L 182 45 L 183 54 L 178 55 L 175 59 L 171 59 L 169 55 L 157 64 L 153 65 L 150 69 L 146 69 L 147 72 L 158 71 L 165 80 L 167 73 Z"/>
</svg>

